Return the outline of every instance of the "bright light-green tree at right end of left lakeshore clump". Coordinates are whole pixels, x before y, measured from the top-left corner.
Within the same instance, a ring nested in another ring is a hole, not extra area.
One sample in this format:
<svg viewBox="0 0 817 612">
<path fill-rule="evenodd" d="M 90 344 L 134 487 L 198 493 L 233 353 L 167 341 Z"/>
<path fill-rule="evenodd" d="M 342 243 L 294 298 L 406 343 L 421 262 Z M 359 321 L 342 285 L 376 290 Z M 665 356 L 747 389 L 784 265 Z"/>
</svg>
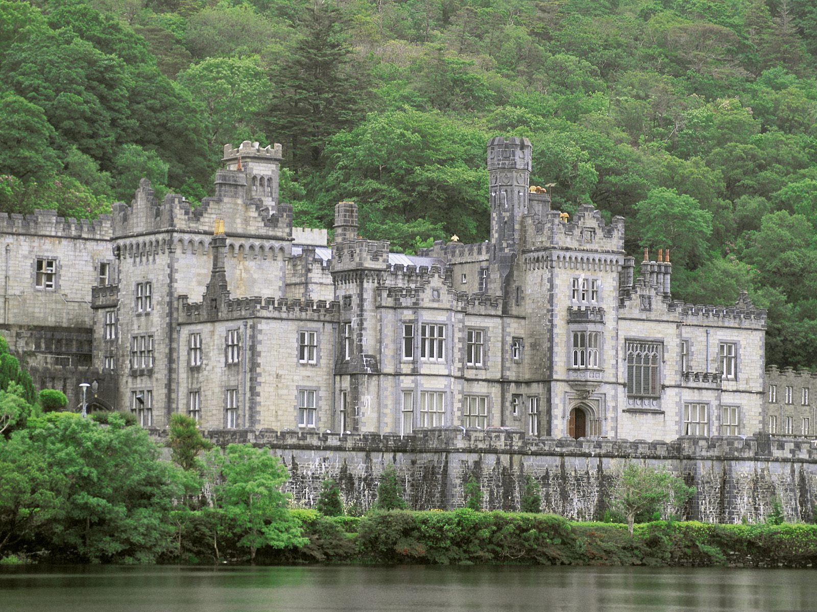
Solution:
<svg viewBox="0 0 817 612">
<path fill-rule="evenodd" d="M 218 452 L 218 451 L 216 451 Z M 221 512 L 225 515 L 238 545 L 248 548 L 255 561 L 258 548 L 303 546 L 301 527 L 287 508 L 287 496 L 280 490 L 289 474 L 269 449 L 251 444 L 230 444 L 225 449 L 221 470 Z"/>
</svg>

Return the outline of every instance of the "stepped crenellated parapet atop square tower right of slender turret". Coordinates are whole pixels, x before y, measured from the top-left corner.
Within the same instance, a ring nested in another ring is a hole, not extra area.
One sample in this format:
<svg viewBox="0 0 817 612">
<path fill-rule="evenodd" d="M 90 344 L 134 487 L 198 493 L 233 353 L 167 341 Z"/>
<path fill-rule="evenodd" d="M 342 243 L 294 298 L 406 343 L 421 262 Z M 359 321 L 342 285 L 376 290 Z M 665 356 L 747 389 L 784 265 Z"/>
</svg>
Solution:
<svg viewBox="0 0 817 612">
<path fill-rule="evenodd" d="M 607 223 L 593 206 L 582 205 L 569 218 L 559 211 L 525 215 L 525 249 L 560 248 L 584 251 L 623 251 L 624 218 Z"/>
</svg>

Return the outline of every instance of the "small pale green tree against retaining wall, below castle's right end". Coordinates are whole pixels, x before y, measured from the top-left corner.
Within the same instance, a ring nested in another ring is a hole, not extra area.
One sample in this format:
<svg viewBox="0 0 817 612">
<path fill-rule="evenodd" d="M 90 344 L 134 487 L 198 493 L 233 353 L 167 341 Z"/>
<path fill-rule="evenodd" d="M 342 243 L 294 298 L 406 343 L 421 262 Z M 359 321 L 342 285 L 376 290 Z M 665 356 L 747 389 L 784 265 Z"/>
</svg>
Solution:
<svg viewBox="0 0 817 612">
<path fill-rule="evenodd" d="M 681 478 L 663 468 L 627 462 L 608 501 L 611 508 L 627 519 L 627 531 L 632 538 L 636 520 L 664 512 L 667 505 L 680 508 L 694 492 L 694 486 L 686 486 Z"/>
</svg>

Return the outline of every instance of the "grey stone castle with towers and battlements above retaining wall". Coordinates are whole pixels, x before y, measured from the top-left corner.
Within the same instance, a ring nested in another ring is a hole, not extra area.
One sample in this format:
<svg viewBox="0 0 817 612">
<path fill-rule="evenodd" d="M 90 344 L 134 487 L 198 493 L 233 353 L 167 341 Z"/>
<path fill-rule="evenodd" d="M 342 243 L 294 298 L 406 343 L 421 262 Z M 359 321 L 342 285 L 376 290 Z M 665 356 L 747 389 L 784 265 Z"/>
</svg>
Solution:
<svg viewBox="0 0 817 612">
<path fill-rule="evenodd" d="M 293 228 L 281 161 L 279 144 L 225 146 L 195 208 L 142 180 L 92 223 L 0 216 L 0 332 L 35 382 L 211 432 L 810 433 L 805 386 L 791 423 L 765 386 L 765 311 L 672 299 L 669 251 L 636 276 L 622 218 L 552 211 L 531 186 L 528 140 L 488 144 L 490 240 L 419 255 L 359 237 L 353 202 L 331 245 Z"/>
</svg>

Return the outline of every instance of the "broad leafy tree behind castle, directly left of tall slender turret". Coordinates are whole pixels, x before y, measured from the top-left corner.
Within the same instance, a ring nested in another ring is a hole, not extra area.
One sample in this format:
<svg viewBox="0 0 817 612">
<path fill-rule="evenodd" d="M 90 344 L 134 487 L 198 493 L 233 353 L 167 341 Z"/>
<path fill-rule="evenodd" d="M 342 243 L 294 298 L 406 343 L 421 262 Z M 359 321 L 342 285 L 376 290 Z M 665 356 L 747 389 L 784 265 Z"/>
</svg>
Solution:
<svg viewBox="0 0 817 612">
<path fill-rule="evenodd" d="M 417 235 L 483 240 L 489 229 L 487 141 L 480 128 L 440 113 L 369 113 L 355 130 L 333 137 L 326 174 L 310 192 L 326 211 L 342 199 L 358 202 L 361 230 L 398 248 L 412 246 Z"/>
</svg>

